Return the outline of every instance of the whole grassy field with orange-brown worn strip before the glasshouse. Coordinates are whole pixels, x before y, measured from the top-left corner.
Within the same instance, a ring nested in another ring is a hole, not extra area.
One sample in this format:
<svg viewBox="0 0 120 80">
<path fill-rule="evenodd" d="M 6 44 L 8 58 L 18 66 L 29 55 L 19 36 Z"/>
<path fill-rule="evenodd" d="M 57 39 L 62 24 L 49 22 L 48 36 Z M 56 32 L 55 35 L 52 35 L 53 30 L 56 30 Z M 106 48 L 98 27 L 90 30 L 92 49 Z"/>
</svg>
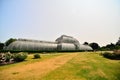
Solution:
<svg viewBox="0 0 120 80">
<path fill-rule="evenodd" d="M 120 60 L 93 52 L 41 54 L 0 66 L 0 80 L 120 80 Z"/>
</svg>

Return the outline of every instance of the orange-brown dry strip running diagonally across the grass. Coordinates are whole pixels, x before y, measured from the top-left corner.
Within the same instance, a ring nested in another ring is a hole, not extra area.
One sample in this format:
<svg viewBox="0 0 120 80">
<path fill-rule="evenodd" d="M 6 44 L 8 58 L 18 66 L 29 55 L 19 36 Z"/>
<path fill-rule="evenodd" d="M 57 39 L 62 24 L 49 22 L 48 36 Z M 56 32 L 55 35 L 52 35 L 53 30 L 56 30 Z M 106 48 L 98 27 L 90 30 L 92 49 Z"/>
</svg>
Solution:
<svg viewBox="0 0 120 80">
<path fill-rule="evenodd" d="M 38 80 L 75 56 L 77 53 L 65 54 L 45 61 L 14 67 L 0 72 L 0 76 L 3 78 L 2 80 Z"/>
</svg>

